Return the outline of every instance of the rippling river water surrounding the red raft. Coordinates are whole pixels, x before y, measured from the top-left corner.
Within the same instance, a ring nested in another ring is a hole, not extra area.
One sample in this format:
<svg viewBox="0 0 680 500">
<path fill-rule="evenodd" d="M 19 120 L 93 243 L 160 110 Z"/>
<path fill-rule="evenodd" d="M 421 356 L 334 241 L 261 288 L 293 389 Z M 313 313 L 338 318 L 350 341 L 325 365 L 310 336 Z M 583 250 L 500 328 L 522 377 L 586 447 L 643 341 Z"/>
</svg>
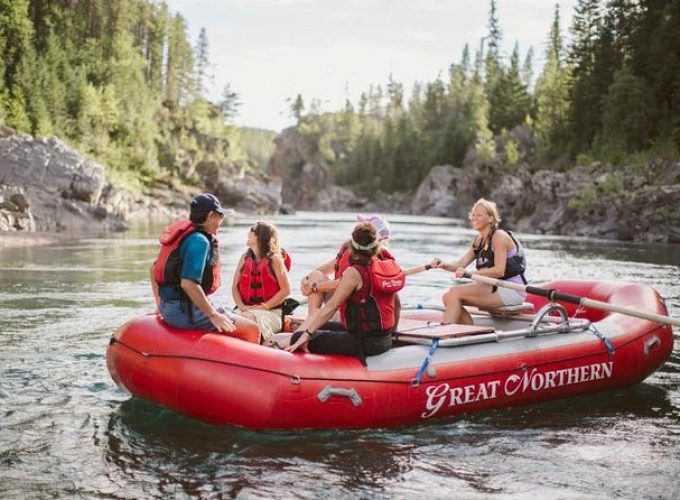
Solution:
<svg viewBox="0 0 680 500">
<path fill-rule="evenodd" d="M 335 255 L 351 214 L 273 220 L 300 278 Z M 221 232 L 223 279 L 254 219 Z M 393 216 L 403 267 L 462 253 L 462 221 Z M 0 498 L 678 498 L 680 352 L 627 390 L 396 429 L 253 432 L 131 399 L 111 333 L 152 310 L 158 227 L 0 250 Z M 521 235 L 528 278 L 647 283 L 680 316 L 680 246 Z M 409 279 L 434 304 L 451 275 Z M 231 304 L 229 287 L 216 302 Z M 676 330 L 677 335 L 677 330 Z"/>
</svg>

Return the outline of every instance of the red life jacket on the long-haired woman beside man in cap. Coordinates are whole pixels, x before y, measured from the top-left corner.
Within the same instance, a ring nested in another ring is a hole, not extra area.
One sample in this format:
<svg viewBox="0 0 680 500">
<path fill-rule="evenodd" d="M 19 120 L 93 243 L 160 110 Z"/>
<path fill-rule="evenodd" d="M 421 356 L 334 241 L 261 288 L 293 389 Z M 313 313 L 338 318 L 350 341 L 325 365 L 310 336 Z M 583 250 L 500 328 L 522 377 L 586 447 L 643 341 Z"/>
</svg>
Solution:
<svg viewBox="0 0 680 500">
<path fill-rule="evenodd" d="M 290 255 L 281 249 L 281 256 L 286 269 L 290 271 Z M 238 280 L 238 291 L 243 303 L 248 306 L 261 304 L 271 299 L 279 290 L 281 286 L 276 279 L 271 258 L 263 257 L 256 262 L 255 254 L 248 249 L 244 254 L 241 276 Z"/>
</svg>

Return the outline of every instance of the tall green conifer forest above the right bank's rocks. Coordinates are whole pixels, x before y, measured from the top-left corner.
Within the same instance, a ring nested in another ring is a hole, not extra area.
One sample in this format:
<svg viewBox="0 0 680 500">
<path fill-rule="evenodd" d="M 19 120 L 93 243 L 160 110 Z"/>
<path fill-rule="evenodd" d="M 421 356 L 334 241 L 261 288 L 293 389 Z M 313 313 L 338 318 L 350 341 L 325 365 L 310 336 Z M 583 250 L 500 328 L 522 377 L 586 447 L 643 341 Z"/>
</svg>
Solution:
<svg viewBox="0 0 680 500">
<path fill-rule="evenodd" d="M 325 159 L 336 180 L 366 192 L 413 189 L 434 165 L 466 166 L 471 160 L 511 171 L 522 161 L 547 160 L 544 165 L 562 168 L 555 160 L 575 157 L 589 166 L 594 160 L 642 163 L 654 154 L 677 155 L 677 26 L 675 0 L 578 0 L 567 46 L 556 5 L 546 62 L 532 89 L 533 52 L 520 65 L 515 45 L 504 60 L 496 2 L 490 0 L 488 35 L 473 64 L 466 45 L 448 80 L 416 82 L 408 103 L 403 85 L 390 75 L 386 95 L 371 86 L 356 113 L 348 103 L 351 113 L 323 120 L 311 112 L 300 115 L 298 131 L 310 158 Z M 517 125 L 533 133 L 533 148 L 508 139 L 505 132 Z M 607 180 L 571 204 L 587 207 L 618 188 Z"/>
</svg>

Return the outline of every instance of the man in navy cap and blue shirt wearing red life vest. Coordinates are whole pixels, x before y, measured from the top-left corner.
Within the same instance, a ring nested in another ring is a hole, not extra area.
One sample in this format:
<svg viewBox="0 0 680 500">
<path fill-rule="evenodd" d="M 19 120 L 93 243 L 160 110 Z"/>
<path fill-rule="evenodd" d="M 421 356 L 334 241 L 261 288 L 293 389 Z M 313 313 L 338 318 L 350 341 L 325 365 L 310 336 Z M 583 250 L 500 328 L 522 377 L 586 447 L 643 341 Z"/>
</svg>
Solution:
<svg viewBox="0 0 680 500">
<path fill-rule="evenodd" d="M 163 320 L 175 328 L 233 332 L 255 329 L 245 318 L 215 307 L 208 295 L 220 285 L 217 231 L 224 209 L 212 194 L 197 195 L 189 220 L 177 221 L 161 235 L 161 251 L 151 267 L 151 287 Z"/>
</svg>

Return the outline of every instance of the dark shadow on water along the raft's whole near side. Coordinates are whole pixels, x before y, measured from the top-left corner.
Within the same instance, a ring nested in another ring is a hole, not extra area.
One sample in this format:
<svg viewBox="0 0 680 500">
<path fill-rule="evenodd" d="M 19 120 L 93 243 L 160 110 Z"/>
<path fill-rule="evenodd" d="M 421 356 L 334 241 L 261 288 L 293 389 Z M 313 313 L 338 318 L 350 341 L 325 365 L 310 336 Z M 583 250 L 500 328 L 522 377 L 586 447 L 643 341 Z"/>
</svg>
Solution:
<svg viewBox="0 0 680 500">
<path fill-rule="evenodd" d="M 492 471 L 468 457 L 485 448 L 499 452 L 499 440 L 507 446 L 508 437 L 513 443 L 531 437 L 557 446 L 621 418 L 645 421 L 672 413 L 666 390 L 640 384 L 394 429 L 249 431 L 203 424 L 133 398 L 111 413 L 103 447 L 120 477 L 154 478 L 158 496 L 279 496 L 298 484 L 315 496 L 331 485 L 346 493 L 387 493 L 395 481 L 413 482 L 423 467 L 427 474 L 446 477 L 449 486 L 455 480 L 462 491 L 489 494 L 503 489 Z M 433 469 L 427 470 L 423 454 L 430 452 L 446 459 L 432 460 Z"/>
</svg>

